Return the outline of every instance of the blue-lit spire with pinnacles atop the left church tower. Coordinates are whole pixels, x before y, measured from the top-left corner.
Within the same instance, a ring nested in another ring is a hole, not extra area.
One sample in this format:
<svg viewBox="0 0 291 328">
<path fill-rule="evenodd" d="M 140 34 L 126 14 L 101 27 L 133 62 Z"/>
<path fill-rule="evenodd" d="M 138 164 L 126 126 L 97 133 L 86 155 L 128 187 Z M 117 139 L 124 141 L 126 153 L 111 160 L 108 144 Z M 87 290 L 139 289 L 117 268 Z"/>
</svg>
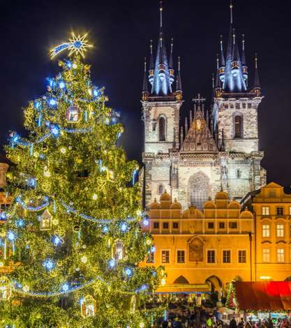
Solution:
<svg viewBox="0 0 291 328">
<path fill-rule="evenodd" d="M 181 72 L 180 59 L 178 63 L 178 71 L 176 77 L 176 92 L 173 91 L 174 75 L 174 59 L 173 59 L 173 39 L 170 44 L 170 56 L 167 57 L 166 41 L 163 34 L 163 1 L 160 1 L 160 31 L 158 36 L 156 60 L 154 60 L 153 43 L 150 44 L 150 61 L 148 80 L 151 84 L 151 91 L 148 89 L 147 75 L 144 73 L 144 82 L 142 90 L 142 100 L 148 100 L 150 97 L 167 97 L 181 100 Z M 144 64 L 146 67 L 146 63 Z"/>
</svg>

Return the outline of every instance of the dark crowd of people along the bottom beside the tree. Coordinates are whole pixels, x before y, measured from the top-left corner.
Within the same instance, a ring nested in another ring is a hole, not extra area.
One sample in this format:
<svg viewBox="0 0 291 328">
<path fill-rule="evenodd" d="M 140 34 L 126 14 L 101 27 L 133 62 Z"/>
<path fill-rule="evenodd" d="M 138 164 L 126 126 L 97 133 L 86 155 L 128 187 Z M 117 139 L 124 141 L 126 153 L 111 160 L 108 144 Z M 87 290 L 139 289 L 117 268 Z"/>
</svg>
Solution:
<svg viewBox="0 0 291 328">
<path fill-rule="evenodd" d="M 167 319 L 161 318 L 157 322 L 158 328 L 291 328 L 291 320 L 288 318 L 272 320 L 248 320 L 244 318 L 222 320 L 221 313 L 207 313 L 204 308 L 195 308 L 194 311 L 182 313 L 168 313 Z"/>
</svg>

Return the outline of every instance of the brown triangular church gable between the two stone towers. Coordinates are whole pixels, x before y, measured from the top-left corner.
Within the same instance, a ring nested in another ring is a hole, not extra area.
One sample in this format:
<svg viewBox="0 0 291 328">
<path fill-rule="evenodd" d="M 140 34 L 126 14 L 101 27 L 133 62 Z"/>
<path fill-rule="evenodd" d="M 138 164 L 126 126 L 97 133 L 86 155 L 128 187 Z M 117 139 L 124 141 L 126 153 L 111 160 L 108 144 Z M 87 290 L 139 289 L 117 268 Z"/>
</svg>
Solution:
<svg viewBox="0 0 291 328">
<path fill-rule="evenodd" d="M 204 115 L 198 107 L 180 151 L 218 151 Z"/>
</svg>

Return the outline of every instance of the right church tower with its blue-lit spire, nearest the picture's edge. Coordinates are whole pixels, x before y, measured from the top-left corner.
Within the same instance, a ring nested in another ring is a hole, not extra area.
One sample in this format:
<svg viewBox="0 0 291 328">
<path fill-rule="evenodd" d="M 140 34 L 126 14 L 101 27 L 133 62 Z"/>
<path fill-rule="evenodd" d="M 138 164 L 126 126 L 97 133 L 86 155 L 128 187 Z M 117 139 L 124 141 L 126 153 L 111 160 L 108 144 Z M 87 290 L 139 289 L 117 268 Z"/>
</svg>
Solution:
<svg viewBox="0 0 291 328">
<path fill-rule="evenodd" d="M 227 174 L 227 185 L 223 186 L 223 189 L 237 198 L 248 190 L 261 188 L 266 183 L 265 171 L 260 166 L 264 154 L 259 151 L 258 106 L 263 96 L 256 55 L 255 79 L 253 85 L 249 84 L 244 34 L 240 52 L 234 29 L 233 4 L 230 1 L 230 33 L 225 54 L 221 37 L 212 117 L 218 148 L 225 154 L 231 154 L 230 158 L 223 160 Z"/>
</svg>

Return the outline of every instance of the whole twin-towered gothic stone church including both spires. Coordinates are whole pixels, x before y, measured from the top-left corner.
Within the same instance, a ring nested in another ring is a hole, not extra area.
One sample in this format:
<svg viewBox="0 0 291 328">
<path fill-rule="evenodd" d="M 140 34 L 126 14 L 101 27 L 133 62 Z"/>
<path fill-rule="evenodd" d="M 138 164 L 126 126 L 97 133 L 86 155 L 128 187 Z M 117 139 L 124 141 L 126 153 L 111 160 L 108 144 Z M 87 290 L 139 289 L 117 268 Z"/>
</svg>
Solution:
<svg viewBox="0 0 291 328">
<path fill-rule="evenodd" d="M 144 63 L 144 167 L 140 173 L 144 205 L 149 208 L 164 191 L 183 209 L 190 205 L 202 209 L 221 190 L 241 200 L 266 184 L 260 165 L 264 154 L 258 145 L 258 106 L 263 97 L 257 59 L 253 86 L 248 87 L 244 40 L 240 51 L 230 5 L 230 35 L 226 52 L 221 40 L 211 109 L 205 108 L 205 99 L 198 94 L 190 119 L 181 126 L 181 64 L 179 59 L 175 74 L 173 43 L 169 57 L 165 46 L 162 4 L 160 15 L 156 58 L 151 44 L 149 70 Z"/>
</svg>

